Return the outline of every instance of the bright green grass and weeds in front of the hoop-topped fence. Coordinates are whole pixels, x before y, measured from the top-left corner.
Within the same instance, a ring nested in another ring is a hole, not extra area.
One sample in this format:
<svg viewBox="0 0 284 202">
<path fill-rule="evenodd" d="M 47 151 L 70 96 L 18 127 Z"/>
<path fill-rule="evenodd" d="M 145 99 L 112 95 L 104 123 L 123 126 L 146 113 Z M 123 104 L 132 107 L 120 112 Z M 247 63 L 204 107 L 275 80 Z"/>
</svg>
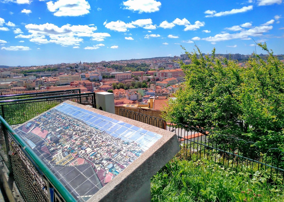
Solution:
<svg viewBox="0 0 284 202">
<path fill-rule="evenodd" d="M 214 161 L 175 157 L 151 179 L 151 201 L 282 202 L 283 188 L 269 183 L 264 171 L 236 173 Z"/>
</svg>

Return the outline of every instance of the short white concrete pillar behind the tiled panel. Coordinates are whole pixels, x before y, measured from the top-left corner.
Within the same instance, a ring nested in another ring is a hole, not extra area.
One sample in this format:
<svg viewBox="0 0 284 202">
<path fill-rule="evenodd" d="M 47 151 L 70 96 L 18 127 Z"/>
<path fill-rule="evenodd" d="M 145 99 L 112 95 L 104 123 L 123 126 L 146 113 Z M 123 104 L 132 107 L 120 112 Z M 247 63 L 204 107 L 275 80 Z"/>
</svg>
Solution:
<svg viewBox="0 0 284 202">
<path fill-rule="evenodd" d="M 115 113 L 114 111 L 114 94 L 110 92 L 96 93 L 97 109 L 102 109 L 108 113 Z M 100 108 L 101 107 L 101 108 Z"/>
</svg>

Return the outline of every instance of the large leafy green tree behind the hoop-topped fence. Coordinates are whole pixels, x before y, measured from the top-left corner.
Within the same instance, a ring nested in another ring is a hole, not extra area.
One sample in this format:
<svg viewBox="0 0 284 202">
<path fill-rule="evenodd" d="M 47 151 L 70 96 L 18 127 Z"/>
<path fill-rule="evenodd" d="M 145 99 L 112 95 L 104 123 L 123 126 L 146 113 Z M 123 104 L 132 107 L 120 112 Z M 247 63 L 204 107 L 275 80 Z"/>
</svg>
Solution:
<svg viewBox="0 0 284 202">
<path fill-rule="evenodd" d="M 266 43 L 267 61 L 258 55 L 245 67 L 234 60 L 185 54 L 191 64 L 181 64 L 185 83 L 176 92 L 165 115 L 167 119 L 258 142 L 266 151 L 284 141 L 284 65 Z M 224 66 L 222 65 L 225 64 Z"/>
</svg>

